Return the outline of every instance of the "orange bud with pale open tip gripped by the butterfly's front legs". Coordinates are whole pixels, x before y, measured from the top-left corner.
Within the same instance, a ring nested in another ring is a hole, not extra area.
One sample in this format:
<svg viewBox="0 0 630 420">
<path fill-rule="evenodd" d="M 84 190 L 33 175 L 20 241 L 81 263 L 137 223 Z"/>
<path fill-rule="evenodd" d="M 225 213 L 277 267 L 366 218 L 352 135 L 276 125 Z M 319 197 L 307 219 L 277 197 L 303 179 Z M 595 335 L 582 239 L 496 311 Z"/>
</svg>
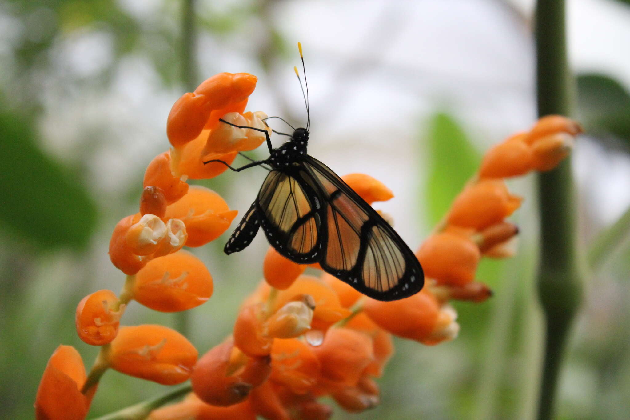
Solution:
<svg viewBox="0 0 630 420">
<path fill-rule="evenodd" d="M 262 122 L 262 118 L 266 117 L 267 115 L 260 111 L 243 115 L 230 112 L 223 115 L 221 119 L 240 127 L 254 127 L 271 132 L 271 128 Z M 207 143 L 203 147 L 202 156 L 253 150 L 265 142 L 265 133 L 251 128 L 234 127 L 234 125 L 221 123 L 211 130 Z"/>
</svg>

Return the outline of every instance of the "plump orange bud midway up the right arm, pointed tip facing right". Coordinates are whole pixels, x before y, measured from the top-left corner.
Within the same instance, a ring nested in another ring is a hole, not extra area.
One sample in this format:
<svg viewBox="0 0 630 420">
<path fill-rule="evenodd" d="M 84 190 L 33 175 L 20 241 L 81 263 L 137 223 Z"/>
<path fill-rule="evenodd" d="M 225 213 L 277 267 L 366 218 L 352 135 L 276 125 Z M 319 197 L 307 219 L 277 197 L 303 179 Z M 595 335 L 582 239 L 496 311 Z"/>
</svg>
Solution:
<svg viewBox="0 0 630 420">
<path fill-rule="evenodd" d="M 520 201 L 520 197 L 510 194 L 504 181 L 482 179 L 455 198 L 447 221 L 459 227 L 484 229 L 511 215 Z"/>
</svg>

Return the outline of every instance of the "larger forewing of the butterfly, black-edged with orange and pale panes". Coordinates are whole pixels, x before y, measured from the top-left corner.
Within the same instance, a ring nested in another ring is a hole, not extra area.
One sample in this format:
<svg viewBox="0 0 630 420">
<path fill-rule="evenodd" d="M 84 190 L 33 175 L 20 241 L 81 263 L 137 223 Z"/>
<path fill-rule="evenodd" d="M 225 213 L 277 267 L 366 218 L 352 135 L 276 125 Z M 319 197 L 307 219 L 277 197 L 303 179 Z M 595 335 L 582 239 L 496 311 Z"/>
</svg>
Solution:
<svg viewBox="0 0 630 420">
<path fill-rule="evenodd" d="M 311 156 L 303 166 L 325 203 L 321 268 L 377 300 L 420 292 L 422 267 L 396 231 L 328 166 Z"/>
</svg>

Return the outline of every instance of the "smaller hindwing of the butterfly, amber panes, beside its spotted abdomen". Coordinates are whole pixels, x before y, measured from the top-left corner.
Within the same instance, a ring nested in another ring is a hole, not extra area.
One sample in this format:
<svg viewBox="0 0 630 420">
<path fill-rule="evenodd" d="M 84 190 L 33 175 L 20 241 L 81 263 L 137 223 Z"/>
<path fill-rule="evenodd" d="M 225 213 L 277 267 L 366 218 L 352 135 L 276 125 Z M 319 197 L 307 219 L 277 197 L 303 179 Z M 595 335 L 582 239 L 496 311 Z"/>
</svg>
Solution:
<svg viewBox="0 0 630 420">
<path fill-rule="evenodd" d="M 273 170 L 256 200 L 257 213 L 269 243 L 280 255 L 301 264 L 315 263 L 326 243 L 321 198 L 311 175 L 301 166 Z"/>
</svg>

